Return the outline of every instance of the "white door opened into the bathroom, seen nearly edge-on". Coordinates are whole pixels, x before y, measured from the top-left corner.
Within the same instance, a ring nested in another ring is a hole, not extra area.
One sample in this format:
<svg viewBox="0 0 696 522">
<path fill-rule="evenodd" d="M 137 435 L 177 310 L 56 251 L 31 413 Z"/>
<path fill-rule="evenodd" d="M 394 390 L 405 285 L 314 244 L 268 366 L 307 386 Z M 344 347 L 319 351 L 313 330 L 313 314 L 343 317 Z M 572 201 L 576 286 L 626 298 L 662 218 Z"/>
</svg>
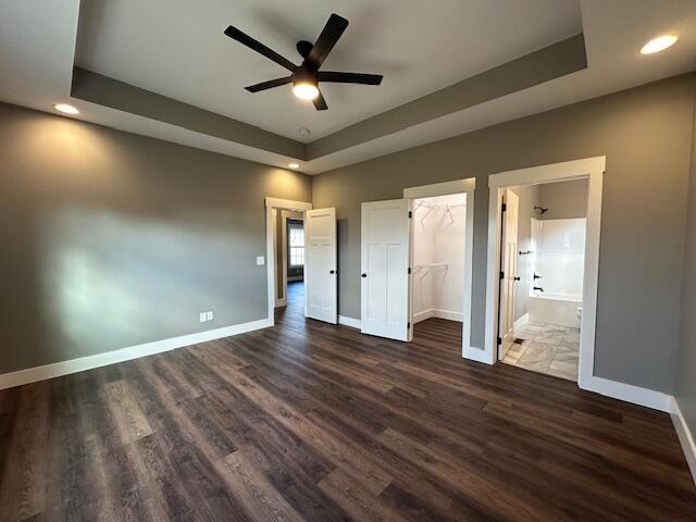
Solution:
<svg viewBox="0 0 696 522">
<path fill-rule="evenodd" d="M 507 353 L 512 344 L 512 328 L 514 326 L 514 300 L 518 282 L 518 215 L 520 198 L 509 188 L 504 196 L 505 212 L 502 213 L 502 250 L 501 270 L 502 279 L 500 288 L 500 337 L 502 349 L 499 357 Z"/>
</svg>

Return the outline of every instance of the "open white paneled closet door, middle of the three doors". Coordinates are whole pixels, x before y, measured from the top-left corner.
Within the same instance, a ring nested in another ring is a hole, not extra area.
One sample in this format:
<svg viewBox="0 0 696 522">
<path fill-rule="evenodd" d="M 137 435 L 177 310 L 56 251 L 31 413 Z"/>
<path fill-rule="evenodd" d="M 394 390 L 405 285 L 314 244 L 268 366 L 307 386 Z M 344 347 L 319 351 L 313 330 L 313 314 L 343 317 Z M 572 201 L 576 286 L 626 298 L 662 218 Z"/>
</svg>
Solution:
<svg viewBox="0 0 696 522">
<path fill-rule="evenodd" d="M 362 203 L 361 312 L 363 334 L 409 338 L 409 201 Z"/>
</svg>

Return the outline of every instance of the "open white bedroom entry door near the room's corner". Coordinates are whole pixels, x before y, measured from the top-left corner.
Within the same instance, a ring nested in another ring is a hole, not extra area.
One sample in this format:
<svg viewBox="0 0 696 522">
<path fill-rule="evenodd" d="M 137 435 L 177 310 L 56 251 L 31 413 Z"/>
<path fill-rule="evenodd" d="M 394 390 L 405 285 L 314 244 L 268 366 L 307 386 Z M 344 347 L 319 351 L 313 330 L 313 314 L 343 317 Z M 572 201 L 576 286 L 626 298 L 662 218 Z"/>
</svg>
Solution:
<svg viewBox="0 0 696 522">
<path fill-rule="evenodd" d="M 338 322 L 336 209 L 304 211 L 304 315 Z"/>
</svg>

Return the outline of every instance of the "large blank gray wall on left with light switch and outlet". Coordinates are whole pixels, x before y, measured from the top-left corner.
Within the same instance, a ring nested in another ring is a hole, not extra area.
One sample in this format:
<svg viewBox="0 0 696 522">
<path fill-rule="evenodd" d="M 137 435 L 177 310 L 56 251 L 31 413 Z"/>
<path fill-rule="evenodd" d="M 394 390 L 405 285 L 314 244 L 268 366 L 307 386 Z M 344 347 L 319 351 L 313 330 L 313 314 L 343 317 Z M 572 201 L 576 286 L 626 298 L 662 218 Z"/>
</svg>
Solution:
<svg viewBox="0 0 696 522">
<path fill-rule="evenodd" d="M 310 179 L 0 104 L 0 373 L 265 318 L 265 196 Z"/>
</svg>

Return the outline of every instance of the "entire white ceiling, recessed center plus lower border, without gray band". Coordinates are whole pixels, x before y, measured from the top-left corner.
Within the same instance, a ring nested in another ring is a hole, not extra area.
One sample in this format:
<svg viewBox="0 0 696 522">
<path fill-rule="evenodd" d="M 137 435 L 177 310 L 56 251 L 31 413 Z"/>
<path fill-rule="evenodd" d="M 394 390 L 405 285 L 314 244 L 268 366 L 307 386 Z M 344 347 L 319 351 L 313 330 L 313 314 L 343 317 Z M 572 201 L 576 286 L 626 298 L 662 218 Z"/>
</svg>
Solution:
<svg viewBox="0 0 696 522">
<path fill-rule="evenodd" d="M 70 102 L 72 66 L 77 59 L 77 63 L 87 69 L 115 79 L 294 139 L 300 139 L 298 127 L 308 126 L 313 130 L 310 140 L 579 29 L 573 25 L 577 24 L 574 0 L 437 0 L 435 3 L 311 0 L 301 2 L 299 8 L 281 0 L 94 0 L 83 8 L 86 24 L 92 17 L 109 22 L 83 25 L 76 58 L 78 0 L 0 0 L 0 3 L 2 101 L 47 112 L 52 112 L 52 103 Z M 108 11 L 96 13 L 91 11 L 92 4 L 105 4 Z M 326 8 L 327 4 L 332 7 Z M 389 13 L 384 5 L 391 5 L 395 12 Z M 87 7 L 91 12 L 85 10 Z M 696 1 L 580 0 L 580 7 L 587 46 L 586 70 L 311 162 L 300 162 L 301 169 L 308 173 L 324 172 L 696 69 Z M 383 73 L 383 86 L 326 86 L 330 110 L 323 113 L 295 101 L 289 89 L 279 88 L 263 95 L 247 95 L 243 90 L 245 85 L 281 76 L 284 72 L 224 37 L 222 30 L 228 23 L 294 60 L 297 57 L 293 53 L 295 40 L 314 39 L 331 11 L 348 17 L 350 25 L 326 66 Z M 471 25 L 473 16 L 476 22 Z M 85 27 L 91 28 L 82 33 Z M 638 53 L 647 39 L 667 32 L 680 36 L 672 49 L 651 57 Z M 475 38 L 471 37 L 474 34 Z M 164 39 L 160 41 L 153 35 L 162 35 Z M 199 38 L 207 42 L 203 50 L 200 45 L 194 45 Z M 442 41 L 449 42 L 450 48 L 444 58 L 411 60 L 418 53 L 430 53 Z M 137 77 L 139 73 L 141 77 Z M 182 96 L 176 94 L 179 90 Z M 390 94 L 387 96 L 387 92 Z M 77 116 L 80 120 L 277 166 L 290 161 L 279 154 L 83 100 L 72 102 L 82 110 Z"/>
</svg>

